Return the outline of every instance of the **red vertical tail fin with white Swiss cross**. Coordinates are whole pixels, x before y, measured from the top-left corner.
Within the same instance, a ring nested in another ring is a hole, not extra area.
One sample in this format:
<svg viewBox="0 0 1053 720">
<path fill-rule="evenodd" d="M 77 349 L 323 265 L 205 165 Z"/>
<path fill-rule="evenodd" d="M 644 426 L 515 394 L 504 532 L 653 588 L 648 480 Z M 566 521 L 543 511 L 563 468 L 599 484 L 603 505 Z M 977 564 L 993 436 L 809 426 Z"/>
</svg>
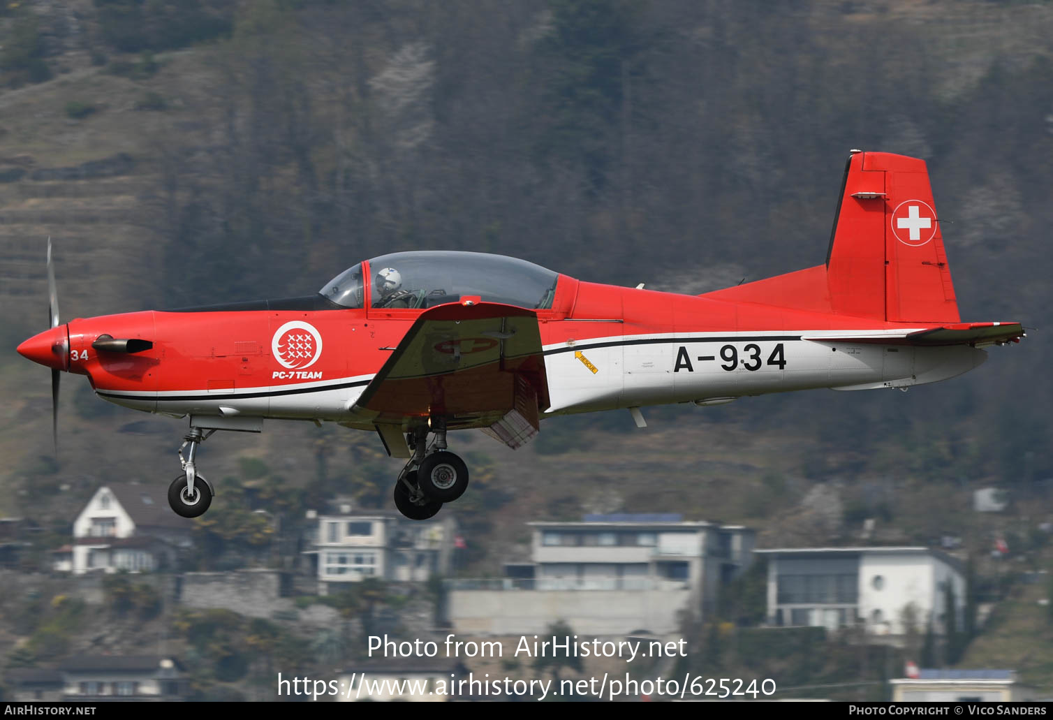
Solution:
<svg viewBox="0 0 1053 720">
<path fill-rule="evenodd" d="M 849 158 L 827 254 L 835 313 L 890 322 L 958 322 L 925 161 Z"/>
</svg>

